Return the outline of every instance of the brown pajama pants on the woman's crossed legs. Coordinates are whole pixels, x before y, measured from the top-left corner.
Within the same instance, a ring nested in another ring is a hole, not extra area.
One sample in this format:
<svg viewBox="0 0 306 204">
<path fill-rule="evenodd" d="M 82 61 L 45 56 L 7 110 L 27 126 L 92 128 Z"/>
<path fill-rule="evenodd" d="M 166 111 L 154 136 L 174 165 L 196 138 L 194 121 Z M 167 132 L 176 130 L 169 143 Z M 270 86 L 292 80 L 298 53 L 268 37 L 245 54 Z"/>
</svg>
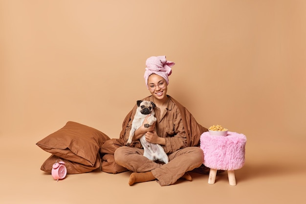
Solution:
<svg viewBox="0 0 306 204">
<path fill-rule="evenodd" d="M 169 163 L 155 163 L 143 156 L 143 149 L 122 146 L 115 153 L 115 162 L 133 172 L 151 171 L 161 185 L 174 184 L 185 172 L 199 167 L 204 162 L 199 147 L 185 147 L 168 154 Z"/>
</svg>

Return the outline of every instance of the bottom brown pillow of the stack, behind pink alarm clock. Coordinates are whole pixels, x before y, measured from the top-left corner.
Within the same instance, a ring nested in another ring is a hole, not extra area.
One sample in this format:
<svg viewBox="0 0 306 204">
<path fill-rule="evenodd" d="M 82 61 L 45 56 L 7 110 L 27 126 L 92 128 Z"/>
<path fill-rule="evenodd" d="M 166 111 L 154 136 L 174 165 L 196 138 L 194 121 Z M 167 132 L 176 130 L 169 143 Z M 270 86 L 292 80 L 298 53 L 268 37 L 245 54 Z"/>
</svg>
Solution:
<svg viewBox="0 0 306 204">
<path fill-rule="evenodd" d="M 62 160 L 63 162 L 65 162 L 65 166 L 67 168 L 67 174 L 81 174 L 81 173 L 91 172 L 97 168 L 100 168 L 101 165 L 101 159 L 99 154 L 97 156 L 96 163 L 94 164 L 94 166 L 91 165 L 88 166 L 81 163 L 71 162 L 52 154 L 46 161 L 44 161 L 41 170 L 51 173 L 52 165 L 56 162 L 56 160 Z"/>
</svg>

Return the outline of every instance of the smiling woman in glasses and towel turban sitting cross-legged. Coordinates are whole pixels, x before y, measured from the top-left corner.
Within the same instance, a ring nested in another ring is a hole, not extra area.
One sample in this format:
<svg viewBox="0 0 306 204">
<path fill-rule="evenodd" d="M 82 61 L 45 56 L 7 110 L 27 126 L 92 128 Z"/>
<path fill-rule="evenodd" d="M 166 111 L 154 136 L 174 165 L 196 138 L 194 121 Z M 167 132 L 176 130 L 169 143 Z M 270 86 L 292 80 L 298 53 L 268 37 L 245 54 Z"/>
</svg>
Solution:
<svg viewBox="0 0 306 204">
<path fill-rule="evenodd" d="M 191 181 L 187 173 L 199 167 L 203 161 L 203 151 L 198 147 L 200 135 L 208 131 L 196 122 L 192 114 L 179 102 L 167 95 L 171 67 L 175 63 L 165 56 L 151 57 L 146 61 L 145 82 L 151 96 L 143 99 L 154 102 L 155 125 L 142 125 L 135 131 L 131 146 L 120 146 L 114 152 L 117 164 L 133 171 L 129 184 L 157 180 L 161 185 L 174 184 L 179 178 Z M 121 144 L 129 138 L 131 122 L 135 115 L 135 105 L 126 117 L 120 134 Z M 147 123 L 145 120 L 143 124 Z M 154 129 L 156 128 L 156 130 Z M 146 135 L 150 143 L 162 145 L 169 157 L 169 163 L 153 162 L 143 156 L 139 138 Z"/>
</svg>

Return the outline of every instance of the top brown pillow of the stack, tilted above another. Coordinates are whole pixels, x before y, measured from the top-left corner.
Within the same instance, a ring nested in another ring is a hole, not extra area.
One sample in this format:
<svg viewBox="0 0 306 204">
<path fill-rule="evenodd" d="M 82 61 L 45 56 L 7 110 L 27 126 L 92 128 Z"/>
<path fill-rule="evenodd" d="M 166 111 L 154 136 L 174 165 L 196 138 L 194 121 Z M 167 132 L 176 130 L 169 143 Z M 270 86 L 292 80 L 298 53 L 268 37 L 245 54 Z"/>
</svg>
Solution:
<svg viewBox="0 0 306 204">
<path fill-rule="evenodd" d="M 36 144 L 65 160 L 94 166 L 99 149 L 107 140 L 110 138 L 103 132 L 69 121 L 64 127 Z"/>
</svg>

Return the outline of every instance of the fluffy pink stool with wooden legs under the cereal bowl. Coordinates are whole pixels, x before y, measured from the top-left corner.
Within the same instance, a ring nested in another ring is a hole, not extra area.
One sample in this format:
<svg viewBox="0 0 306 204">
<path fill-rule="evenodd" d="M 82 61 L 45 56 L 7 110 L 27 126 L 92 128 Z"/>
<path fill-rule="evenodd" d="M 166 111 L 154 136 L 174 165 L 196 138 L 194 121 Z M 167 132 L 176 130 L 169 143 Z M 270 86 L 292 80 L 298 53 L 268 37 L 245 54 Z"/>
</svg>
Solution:
<svg viewBox="0 0 306 204">
<path fill-rule="evenodd" d="M 226 170 L 230 185 L 236 185 L 235 171 L 244 165 L 246 137 L 228 131 L 227 136 L 214 136 L 204 132 L 200 148 L 204 152 L 204 165 L 210 168 L 208 184 L 215 184 L 217 170 Z"/>
</svg>

